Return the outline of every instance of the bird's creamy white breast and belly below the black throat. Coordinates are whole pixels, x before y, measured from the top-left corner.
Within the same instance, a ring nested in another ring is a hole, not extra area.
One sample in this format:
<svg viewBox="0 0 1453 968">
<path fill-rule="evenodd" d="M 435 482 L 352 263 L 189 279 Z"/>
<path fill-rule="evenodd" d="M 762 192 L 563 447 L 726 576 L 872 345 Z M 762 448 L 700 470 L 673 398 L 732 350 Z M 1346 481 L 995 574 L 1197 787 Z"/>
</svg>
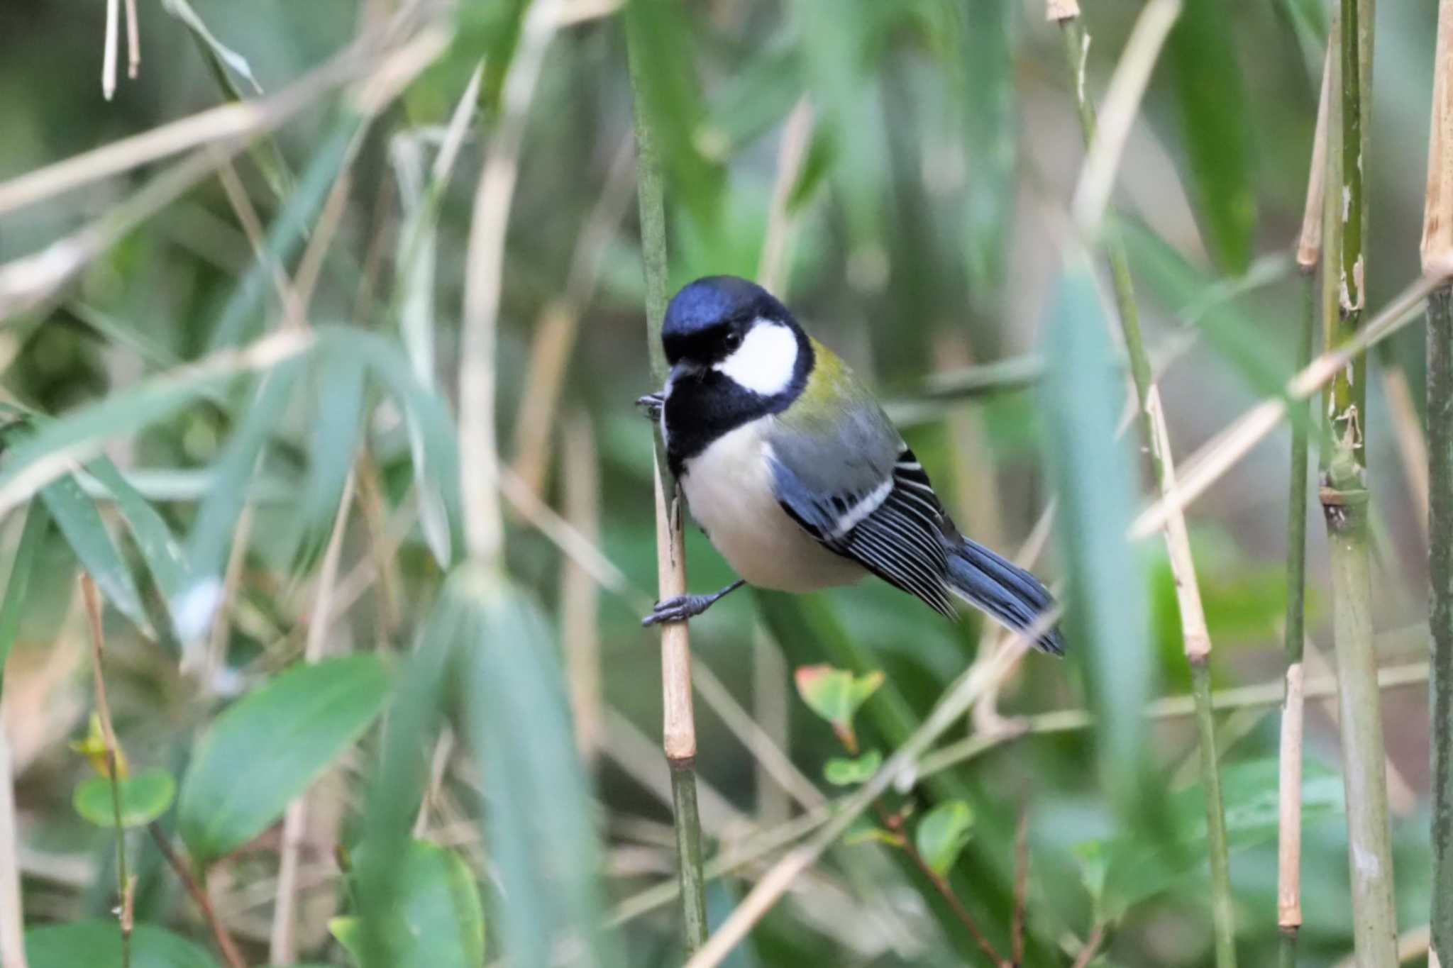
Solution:
<svg viewBox="0 0 1453 968">
<path fill-rule="evenodd" d="M 763 440 L 770 419 L 738 427 L 686 462 L 681 489 L 692 517 L 751 585 L 809 592 L 856 582 L 863 567 L 818 544 L 777 504 Z"/>
</svg>

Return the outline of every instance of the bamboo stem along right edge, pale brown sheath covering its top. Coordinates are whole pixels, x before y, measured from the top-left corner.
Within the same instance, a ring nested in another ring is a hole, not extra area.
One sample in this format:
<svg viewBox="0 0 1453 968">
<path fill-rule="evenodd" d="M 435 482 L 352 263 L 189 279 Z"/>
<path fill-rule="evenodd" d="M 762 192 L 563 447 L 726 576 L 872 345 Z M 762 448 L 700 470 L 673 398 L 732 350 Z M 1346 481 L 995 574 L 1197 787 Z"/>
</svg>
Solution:
<svg viewBox="0 0 1453 968">
<path fill-rule="evenodd" d="M 1428 296 L 1428 631 L 1433 747 L 1433 903 L 1428 964 L 1453 964 L 1453 0 L 1438 3 L 1422 271 Z"/>
</svg>

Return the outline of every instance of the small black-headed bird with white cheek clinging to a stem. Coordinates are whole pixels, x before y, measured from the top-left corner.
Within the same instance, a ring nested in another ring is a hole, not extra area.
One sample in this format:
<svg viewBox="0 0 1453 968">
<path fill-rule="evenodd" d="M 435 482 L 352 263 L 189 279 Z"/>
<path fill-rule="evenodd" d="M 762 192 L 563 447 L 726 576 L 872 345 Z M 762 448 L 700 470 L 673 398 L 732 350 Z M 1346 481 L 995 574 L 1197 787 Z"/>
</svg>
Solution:
<svg viewBox="0 0 1453 968">
<path fill-rule="evenodd" d="M 641 398 L 692 517 L 741 576 L 658 602 L 686 621 L 753 583 L 788 592 L 867 573 L 956 617 L 950 595 L 1014 630 L 1053 608 L 1037 578 L 959 534 L 928 475 L 841 358 L 766 289 L 709 276 L 671 299 L 665 389 Z M 1064 655 L 1058 628 L 1036 644 Z"/>
</svg>

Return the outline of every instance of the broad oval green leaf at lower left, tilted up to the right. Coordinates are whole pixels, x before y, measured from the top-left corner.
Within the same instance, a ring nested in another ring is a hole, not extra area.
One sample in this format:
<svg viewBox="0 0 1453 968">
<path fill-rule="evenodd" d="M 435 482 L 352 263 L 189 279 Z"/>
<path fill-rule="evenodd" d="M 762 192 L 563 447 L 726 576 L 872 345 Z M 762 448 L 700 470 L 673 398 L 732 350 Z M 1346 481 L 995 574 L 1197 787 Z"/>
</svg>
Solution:
<svg viewBox="0 0 1453 968">
<path fill-rule="evenodd" d="M 278 820 L 384 710 L 378 656 L 299 665 L 238 700 L 202 736 L 182 779 L 177 829 L 206 864 Z"/>
</svg>

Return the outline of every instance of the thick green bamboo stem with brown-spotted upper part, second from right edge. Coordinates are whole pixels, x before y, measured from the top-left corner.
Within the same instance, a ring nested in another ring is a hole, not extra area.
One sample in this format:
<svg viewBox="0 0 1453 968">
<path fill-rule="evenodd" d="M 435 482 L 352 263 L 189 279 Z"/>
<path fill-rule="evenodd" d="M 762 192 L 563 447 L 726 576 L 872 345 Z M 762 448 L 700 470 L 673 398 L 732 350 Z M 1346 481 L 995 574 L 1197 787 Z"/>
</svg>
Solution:
<svg viewBox="0 0 1453 968">
<path fill-rule="evenodd" d="M 1324 209 L 1331 216 L 1324 258 L 1335 280 L 1335 302 L 1324 300 L 1327 345 L 1354 335 L 1366 306 L 1367 154 L 1372 80 L 1372 0 L 1341 0 L 1334 91 L 1338 149 L 1328 145 Z M 1331 295 L 1331 293 L 1328 293 Z M 1367 537 L 1367 479 L 1363 431 L 1366 417 L 1366 353 L 1359 353 L 1327 389 L 1329 453 L 1324 451 L 1322 514 L 1327 520 L 1332 578 L 1332 628 L 1337 652 L 1344 784 L 1347 791 L 1348 868 L 1353 939 L 1357 962 L 1376 968 L 1396 962 L 1392 846 L 1388 829 L 1386 749 L 1372 636 L 1372 573 Z"/>
</svg>

